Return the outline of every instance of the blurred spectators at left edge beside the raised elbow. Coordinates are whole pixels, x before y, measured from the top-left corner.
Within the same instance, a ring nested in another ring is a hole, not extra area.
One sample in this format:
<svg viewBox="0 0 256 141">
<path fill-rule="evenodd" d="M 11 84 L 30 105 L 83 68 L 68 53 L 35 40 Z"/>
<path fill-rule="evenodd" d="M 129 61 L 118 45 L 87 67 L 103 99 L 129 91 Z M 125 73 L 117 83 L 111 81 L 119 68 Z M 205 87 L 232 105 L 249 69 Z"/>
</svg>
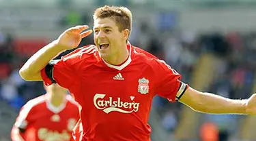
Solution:
<svg viewBox="0 0 256 141">
<path fill-rule="evenodd" d="M 28 56 L 19 54 L 12 35 L 0 33 L 0 98 L 19 110 L 25 102 L 42 94 L 42 83 L 28 83 L 18 74 Z"/>
</svg>

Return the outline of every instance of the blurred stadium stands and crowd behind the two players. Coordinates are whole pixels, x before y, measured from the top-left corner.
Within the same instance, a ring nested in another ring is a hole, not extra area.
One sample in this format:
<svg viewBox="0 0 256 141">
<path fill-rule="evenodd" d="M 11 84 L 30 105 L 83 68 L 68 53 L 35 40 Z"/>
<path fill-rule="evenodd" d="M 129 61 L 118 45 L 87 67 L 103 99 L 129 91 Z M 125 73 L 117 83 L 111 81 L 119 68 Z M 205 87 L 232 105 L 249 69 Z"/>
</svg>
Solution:
<svg viewBox="0 0 256 141">
<path fill-rule="evenodd" d="M 256 92 L 256 1 L 0 0 L 0 141 L 10 140 L 20 106 L 44 94 L 42 82 L 20 78 L 20 66 L 66 28 L 92 27 L 91 15 L 102 5 L 130 8 L 130 42 L 166 60 L 190 86 L 229 98 Z M 91 35 L 81 45 L 92 41 Z M 195 113 L 159 97 L 150 125 L 152 141 L 196 141 L 216 134 L 219 140 L 256 138 L 255 117 Z"/>
</svg>

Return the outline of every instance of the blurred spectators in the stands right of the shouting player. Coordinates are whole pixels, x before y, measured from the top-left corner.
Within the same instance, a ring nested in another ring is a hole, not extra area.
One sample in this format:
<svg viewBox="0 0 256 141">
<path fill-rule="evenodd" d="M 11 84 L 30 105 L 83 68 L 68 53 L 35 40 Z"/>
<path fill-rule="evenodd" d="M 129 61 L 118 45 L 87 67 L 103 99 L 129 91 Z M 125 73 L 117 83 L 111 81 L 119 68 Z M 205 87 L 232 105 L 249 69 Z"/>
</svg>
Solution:
<svg viewBox="0 0 256 141">
<path fill-rule="evenodd" d="M 158 39 L 151 40 L 150 52 L 163 58 L 177 72 L 182 80 L 191 83 L 193 71 L 203 54 L 214 54 L 220 60 L 210 87 L 205 92 L 212 92 L 227 98 L 243 99 L 253 93 L 255 83 L 255 33 L 204 33 L 195 35 L 190 32 L 158 33 Z M 150 39 L 150 38 L 149 38 Z M 156 39 L 156 38 L 154 38 Z M 155 44 L 156 43 L 156 44 Z M 214 67 L 213 67 L 214 68 Z M 173 133 L 179 123 L 182 104 L 156 98 L 155 105 L 161 117 L 162 127 Z M 237 115 L 203 115 L 201 122 L 210 121 L 216 125 L 220 140 L 227 140 L 231 132 L 238 132 Z"/>
</svg>

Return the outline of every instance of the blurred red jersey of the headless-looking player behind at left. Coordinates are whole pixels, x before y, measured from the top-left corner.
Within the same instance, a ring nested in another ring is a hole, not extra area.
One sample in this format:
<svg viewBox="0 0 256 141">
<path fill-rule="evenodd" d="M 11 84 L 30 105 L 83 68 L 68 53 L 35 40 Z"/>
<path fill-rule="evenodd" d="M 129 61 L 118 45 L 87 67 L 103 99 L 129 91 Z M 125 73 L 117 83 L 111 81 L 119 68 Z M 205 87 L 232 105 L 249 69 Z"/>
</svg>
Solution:
<svg viewBox="0 0 256 141">
<path fill-rule="evenodd" d="M 69 95 L 63 104 L 55 107 L 48 94 L 29 100 L 12 128 L 12 140 L 69 141 L 72 129 L 79 121 L 78 103 Z"/>
</svg>

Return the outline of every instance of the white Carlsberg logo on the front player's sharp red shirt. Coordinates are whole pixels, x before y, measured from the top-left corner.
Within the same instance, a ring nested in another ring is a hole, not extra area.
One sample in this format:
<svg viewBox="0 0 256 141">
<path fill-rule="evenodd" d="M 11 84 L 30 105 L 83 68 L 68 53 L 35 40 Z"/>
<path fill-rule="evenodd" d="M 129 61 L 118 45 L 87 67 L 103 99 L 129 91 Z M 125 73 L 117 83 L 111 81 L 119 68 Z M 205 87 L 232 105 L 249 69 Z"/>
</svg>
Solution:
<svg viewBox="0 0 256 141">
<path fill-rule="evenodd" d="M 109 97 L 109 100 L 102 100 L 106 94 L 96 94 L 94 96 L 94 106 L 96 108 L 103 110 L 105 113 L 110 113 L 112 111 L 117 111 L 120 113 L 132 113 L 139 110 L 139 103 L 136 102 L 122 102 L 121 98 L 113 100 Z M 121 109 L 125 108 L 125 110 Z"/>
</svg>

